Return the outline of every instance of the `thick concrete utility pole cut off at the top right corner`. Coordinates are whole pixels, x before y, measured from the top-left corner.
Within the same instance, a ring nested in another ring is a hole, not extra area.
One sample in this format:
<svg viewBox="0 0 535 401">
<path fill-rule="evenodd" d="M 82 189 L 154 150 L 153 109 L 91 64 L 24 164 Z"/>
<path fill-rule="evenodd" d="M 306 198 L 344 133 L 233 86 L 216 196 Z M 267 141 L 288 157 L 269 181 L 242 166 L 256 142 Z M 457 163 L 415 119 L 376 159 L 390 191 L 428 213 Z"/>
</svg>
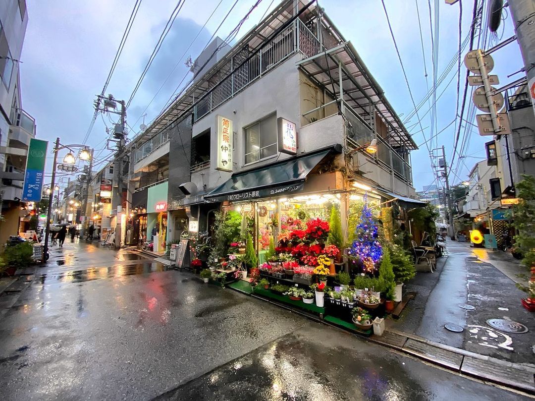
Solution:
<svg viewBox="0 0 535 401">
<path fill-rule="evenodd" d="M 535 112 L 535 3 L 532 0 L 509 0 L 508 4 Z"/>
</svg>

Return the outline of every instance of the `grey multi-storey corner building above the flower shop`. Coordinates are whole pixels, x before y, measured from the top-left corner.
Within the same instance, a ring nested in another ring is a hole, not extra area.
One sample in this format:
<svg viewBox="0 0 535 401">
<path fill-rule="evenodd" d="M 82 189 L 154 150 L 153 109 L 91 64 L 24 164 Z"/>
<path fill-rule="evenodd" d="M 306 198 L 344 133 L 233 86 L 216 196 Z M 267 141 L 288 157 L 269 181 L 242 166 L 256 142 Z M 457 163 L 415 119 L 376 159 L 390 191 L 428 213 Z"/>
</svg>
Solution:
<svg viewBox="0 0 535 401">
<path fill-rule="evenodd" d="M 353 44 L 305 4 L 283 1 L 232 48 L 205 50 L 197 60 L 217 62 L 196 62 L 201 73 L 134 138 L 139 236 L 156 228 L 162 246 L 207 231 L 221 208 L 247 210 L 260 238 L 298 203 L 337 202 L 342 217 L 364 196 L 423 205 L 416 144 Z"/>
</svg>

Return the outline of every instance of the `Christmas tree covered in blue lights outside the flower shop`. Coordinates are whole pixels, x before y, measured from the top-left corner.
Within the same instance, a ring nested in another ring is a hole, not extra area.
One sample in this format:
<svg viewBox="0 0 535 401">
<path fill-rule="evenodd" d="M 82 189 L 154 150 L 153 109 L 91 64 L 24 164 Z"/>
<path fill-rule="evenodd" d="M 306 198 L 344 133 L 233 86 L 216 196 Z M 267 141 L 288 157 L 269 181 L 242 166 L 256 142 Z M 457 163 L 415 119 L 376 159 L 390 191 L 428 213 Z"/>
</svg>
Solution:
<svg viewBox="0 0 535 401">
<path fill-rule="evenodd" d="M 355 241 L 349 249 L 349 256 L 353 257 L 354 263 L 360 260 L 363 264 L 363 269 L 366 273 L 375 273 L 381 256 L 383 256 L 383 248 L 377 239 L 377 224 L 373 222 L 373 215 L 371 209 L 368 207 L 366 196 L 364 196 L 364 207 L 362 214 L 355 228 Z"/>
</svg>

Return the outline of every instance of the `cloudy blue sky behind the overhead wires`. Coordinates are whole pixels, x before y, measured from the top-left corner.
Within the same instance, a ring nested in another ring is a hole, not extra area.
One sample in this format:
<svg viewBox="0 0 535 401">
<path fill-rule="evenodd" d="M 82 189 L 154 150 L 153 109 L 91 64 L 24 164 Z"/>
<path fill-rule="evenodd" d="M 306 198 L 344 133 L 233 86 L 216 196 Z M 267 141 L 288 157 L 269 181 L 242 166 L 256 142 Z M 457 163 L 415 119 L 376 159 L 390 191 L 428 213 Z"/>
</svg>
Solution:
<svg viewBox="0 0 535 401">
<path fill-rule="evenodd" d="M 194 60 L 202 51 L 235 1 L 185 1 L 146 78 L 127 109 L 127 123 L 133 130 L 129 133 L 129 138 L 134 137 L 140 124 L 149 124 L 159 114 L 167 100 L 176 92 L 182 79 L 186 77 L 184 82 L 190 79 L 191 73 L 185 65 L 186 58 L 189 56 Z M 226 37 L 255 2 L 256 0 L 238 0 L 216 34 Z M 93 101 L 102 91 L 134 3 L 135 0 L 28 2 L 29 22 L 20 67 L 22 107 L 36 119 L 37 137 L 49 140 L 49 146 L 56 137 L 60 137 L 62 143 L 83 141 L 93 117 Z M 278 0 L 261 1 L 243 24 L 238 38 L 254 27 L 264 13 L 273 9 L 278 3 Z M 116 99 L 129 99 L 176 4 L 176 0 L 141 1 L 106 94 L 111 93 Z M 438 27 L 434 20 L 435 4 L 438 5 Z M 319 5 L 325 9 L 325 13 L 345 39 L 353 43 L 401 119 L 407 118 L 414 110 L 414 106 L 381 1 L 322 0 L 319 1 Z M 462 5 L 464 39 L 469 33 L 473 2 L 463 0 Z M 216 6 L 212 18 L 206 22 Z M 433 85 L 432 49 L 438 52 L 438 57 L 434 60 L 437 76 L 447 69 L 455 57 L 458 49 L 460 7 L 458 3 L 445 4 L 444 0 L 429 2 L 385 0 L 385 6 L 407 74 L 412 98 L 415 104 L 419 104 Z M 483 12 L 486 14 L 486 6 Z M 202 28 L 205 23 L 206 26 Z M 435 34 L 437 28 L 438 40 Z M 192 43 L 197 34 L 197 39 Z M 486 49 L 513 34 L 513 22 L 506 12 L 498 33 L 490 37 Z M 187 50 L 190 44 L 191 47 Z M 463 57 L 467 51 L 462 52 Z M 182 54 L 185 54 L 185 57 L 180 58 Z M 494 52 L 492 56 L 495 64 L 492 73 L 498 75 L 499 86 L 521 77 L 521 73 L 507 77 L 523 67 L 516 41 Z M 461 64 L 461 95 L 465 72 L 465 67 Z M 414 186 L 417 191 L 434 181 L 429 149 L 444 145 L 447 160 L 451 160 L 459 119 L 455 124 L 449 126 L 448 124 L 452 123 L 457 113 L 457 93 L 455 61 L 452 70 L 438 86 L 437 96 L 440 95 L 440 98 L 436 103 L 437 117 L 434 119 L 434 124 L 431 121 L 432 113 L 426 114 L 432 100 L 426 101 L 418 111 L 421 124 L 418 123 L 416 115 L 405 123 L 412 138 L 419 145 L 419 149 L 411 153 Z M 456 161 L 453 163 L 454 170 L 450 175 L 452 184 L 467 179 L 469 170 L 485 156 L 484 143 L 491 139 L 480 137 L 477 128 L 471 125 L 476 121 L 473 113 L 471 116 L 467 113 L 470 103 L 471 99 L 467 98 L 464 117 L 470 118 L 468 123 L 462 122 L 461 140 L 457 146 Z M 146 116 L 143 116 L 144 114 Z M 105 129 L 106 126 L 111 127 L 113 122 L 113 118 L 98 116 L 87 140 L 87 145 L 95 149 L 96 169 L 102 166 L 106 157 L 111 154 L 111 151 L 105 148 L 107 137 Z M 462 143 L 465 126 L 468 131 Z M 427 149 L 425 141 L 437 132 L 440 134 L 427 142 L 429 145 Z M 461 159 L 457 157 L 459 154 L 463 156 Z M 51 164 L 50 157 L 47 161 L 47 171 L 51 170 Z"/>
</svg>

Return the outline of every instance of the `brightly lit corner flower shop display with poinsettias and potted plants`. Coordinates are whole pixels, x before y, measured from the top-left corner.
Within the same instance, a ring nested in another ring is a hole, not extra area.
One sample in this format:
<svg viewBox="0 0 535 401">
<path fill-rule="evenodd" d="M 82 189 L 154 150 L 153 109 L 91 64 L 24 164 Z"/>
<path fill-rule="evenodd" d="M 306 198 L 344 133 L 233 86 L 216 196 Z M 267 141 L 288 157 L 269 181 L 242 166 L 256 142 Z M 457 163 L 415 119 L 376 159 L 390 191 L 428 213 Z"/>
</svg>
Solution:
<svg viewBox="0 0 535 401">
<path fill-rule="evenodd" d="M 371 334 L 372 321 L 393 310 L 415 275 L 395 208 L 356 186 L 224 201 L 211 245 L 198 246 L 204 260 L 193 263 L 204 267 L 205 282 Z"/>
</svg>

